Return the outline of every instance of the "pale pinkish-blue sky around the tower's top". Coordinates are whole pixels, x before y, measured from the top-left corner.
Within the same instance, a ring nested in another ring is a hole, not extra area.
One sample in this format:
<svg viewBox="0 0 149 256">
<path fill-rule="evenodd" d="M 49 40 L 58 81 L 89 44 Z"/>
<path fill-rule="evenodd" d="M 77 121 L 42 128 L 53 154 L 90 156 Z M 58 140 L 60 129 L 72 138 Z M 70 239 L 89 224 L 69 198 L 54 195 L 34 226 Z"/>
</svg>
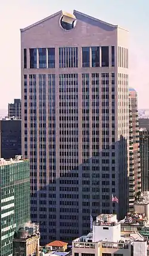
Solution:
<svg viewBox="0 0 149 256">
<path fill-rule="evenodd" d="M 129 30 L 129 86 L 138 92 L 139 108 L 149 109 L 148 0 L 1 0 L 0 109 L 21 97 L 20 29 L 60 10 L 77 10 Z"/>
</svg>

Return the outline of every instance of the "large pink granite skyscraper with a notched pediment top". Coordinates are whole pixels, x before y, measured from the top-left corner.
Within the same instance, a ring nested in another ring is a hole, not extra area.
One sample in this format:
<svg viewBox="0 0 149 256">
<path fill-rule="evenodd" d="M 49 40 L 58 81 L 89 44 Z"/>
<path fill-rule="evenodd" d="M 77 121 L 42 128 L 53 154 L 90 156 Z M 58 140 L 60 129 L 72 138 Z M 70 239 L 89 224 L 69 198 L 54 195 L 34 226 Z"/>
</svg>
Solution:
<svg viewBox="0 0 149 256">
<path fill-rule="evenodd" d="M 128 31 L 74 11 L 21 29 L 22 152 L 41 243 L 128 211 Z"/>
</svg>

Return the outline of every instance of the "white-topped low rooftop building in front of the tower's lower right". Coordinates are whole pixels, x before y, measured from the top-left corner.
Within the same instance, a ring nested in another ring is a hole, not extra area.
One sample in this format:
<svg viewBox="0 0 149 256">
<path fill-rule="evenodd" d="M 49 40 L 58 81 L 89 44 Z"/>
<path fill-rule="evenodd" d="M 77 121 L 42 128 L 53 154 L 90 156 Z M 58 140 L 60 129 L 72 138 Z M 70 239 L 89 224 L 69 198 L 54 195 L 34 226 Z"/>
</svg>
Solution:
<svg viewBox="0 0 149 256">
<path fill-rule="evenodd" d="M 139 233 L 122 235 L 116 215 L 101 214 L 93 231 L 72 242 L 72 256 L 147 256 L 147 240 Z"/>
</svg>

